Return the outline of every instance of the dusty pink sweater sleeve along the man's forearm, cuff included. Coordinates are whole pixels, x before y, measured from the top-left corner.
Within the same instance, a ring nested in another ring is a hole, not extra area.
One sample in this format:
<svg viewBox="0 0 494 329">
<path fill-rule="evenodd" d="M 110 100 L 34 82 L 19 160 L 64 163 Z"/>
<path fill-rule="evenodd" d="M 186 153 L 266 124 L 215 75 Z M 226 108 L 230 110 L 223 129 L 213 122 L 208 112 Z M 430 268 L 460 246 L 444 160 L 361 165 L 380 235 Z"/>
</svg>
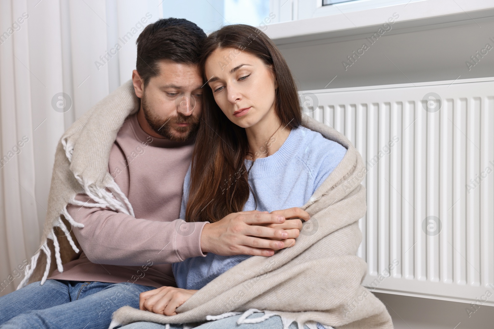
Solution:
<svg viewBox="0 0 494 329">
<path fill-rule="evenodd" d="M 77 200 L 92 201 L 85 194 Z M 207 222 L 155 221 L 138 219 L 110 208 L 69 204 L 67 211 L 84 227 L 74 227 L 82 251 L 93 263 L 137 266 L 149 259 L 155 264 L 174 263 L 205 256 L 201 232 Z"/>
</svg>

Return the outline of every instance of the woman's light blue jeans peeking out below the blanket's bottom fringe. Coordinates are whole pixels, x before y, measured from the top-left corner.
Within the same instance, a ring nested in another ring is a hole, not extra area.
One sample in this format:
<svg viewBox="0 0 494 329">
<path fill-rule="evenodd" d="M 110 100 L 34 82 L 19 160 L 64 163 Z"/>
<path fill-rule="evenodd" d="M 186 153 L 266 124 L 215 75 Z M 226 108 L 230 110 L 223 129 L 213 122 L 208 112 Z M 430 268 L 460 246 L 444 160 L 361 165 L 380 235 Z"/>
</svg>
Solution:
<svg viewBox="0 0 494 329">
<path fill-rule="evenodd" d="M 247 319 L 253 319 L 263 316 L 264 313 L 253 313 L 247 317 Z M 283 324 L 279 315 L 273 315 L 263 322 L 259 323 L 244 323 L 237 325 L 237 320 L 242 315 L 234 315 L 221 320 L 216 320 L 212 322 L 206 322 L 199 327 L 194 327 L 194 329 L 283 329 Z M 292 322 L 288 329 L 297 329 L 297 323 Z M 324 329 L 322 326 L 318 328 Z M 165 329 L 165 325 L 160 325 L 153 322 L 134 322 L 130 325 L 121 327 L 121 329 Z M 170 329 L 182 329 L 182 325 L 170 324 Z M 304 326 L 304 329 L 309 329 L 309 327 Z"/>
</svg>

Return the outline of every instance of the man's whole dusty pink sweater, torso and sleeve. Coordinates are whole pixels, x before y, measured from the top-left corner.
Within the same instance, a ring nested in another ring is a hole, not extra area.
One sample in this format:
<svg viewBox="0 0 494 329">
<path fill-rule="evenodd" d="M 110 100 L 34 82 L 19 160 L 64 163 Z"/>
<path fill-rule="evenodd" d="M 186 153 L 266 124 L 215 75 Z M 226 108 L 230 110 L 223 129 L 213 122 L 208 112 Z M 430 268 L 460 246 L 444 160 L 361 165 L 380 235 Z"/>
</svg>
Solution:
<svg viewBox="0 0 494 329">
<path fill-rule="evenodd" d="M 176 287 L 170 264 L 206 256 L 201 251 L 206 222 L 178 219 L 193 143 L 151 137 L 140 127 L 137 114 L 130 115 L 112 146 L 108 169 L 135 218 L 110 208 L 67 206 L 84 224 L 73 228 L 82 254 L 48 279 Z M 86 194 L 76 198 L 94 202 Z"/>
</svg>

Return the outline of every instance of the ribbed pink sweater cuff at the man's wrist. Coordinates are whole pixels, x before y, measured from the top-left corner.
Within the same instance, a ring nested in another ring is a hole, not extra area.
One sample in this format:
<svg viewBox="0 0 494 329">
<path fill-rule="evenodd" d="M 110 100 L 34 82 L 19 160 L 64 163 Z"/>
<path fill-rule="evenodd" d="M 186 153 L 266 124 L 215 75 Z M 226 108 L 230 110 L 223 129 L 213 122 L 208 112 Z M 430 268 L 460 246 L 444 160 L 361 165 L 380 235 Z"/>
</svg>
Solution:
<svg viewBox="0 0 494 329">
<path fill-rule="evenodd" d="M 185 220 L 180 222 L 175 232 L 175 246 L 181 261 L 190 257 L 206 257 L 201 250 L 201 233 L 207 223 L 209 222 L 186 222 Z"/>
</svg>

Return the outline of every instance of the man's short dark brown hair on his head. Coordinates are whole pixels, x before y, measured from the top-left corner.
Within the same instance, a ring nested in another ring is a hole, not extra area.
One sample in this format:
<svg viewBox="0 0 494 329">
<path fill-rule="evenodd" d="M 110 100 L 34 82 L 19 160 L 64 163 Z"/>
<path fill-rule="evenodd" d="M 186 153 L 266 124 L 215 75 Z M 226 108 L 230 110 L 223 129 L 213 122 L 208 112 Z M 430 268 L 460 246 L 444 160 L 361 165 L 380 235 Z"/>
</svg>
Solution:
<svg viewBox="0 0 494 329">
<path fill-rule="evenodd" d="M 158 61 L 197 64 L 206 33 L 183 18 L 162 18 L 149 24 L 137 38 L 136 70 L 144 85 L 158 75 Z"/>
</svg>

